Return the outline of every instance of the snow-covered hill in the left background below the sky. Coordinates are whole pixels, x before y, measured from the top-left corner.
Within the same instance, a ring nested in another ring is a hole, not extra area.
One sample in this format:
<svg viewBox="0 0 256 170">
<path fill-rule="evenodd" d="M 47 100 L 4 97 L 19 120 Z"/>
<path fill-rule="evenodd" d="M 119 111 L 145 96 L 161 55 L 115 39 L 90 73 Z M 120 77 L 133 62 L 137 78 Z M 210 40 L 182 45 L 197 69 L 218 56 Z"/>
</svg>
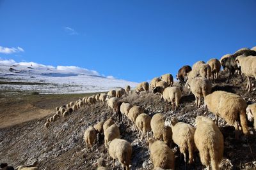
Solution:
<svg viewBox="0 0 256 170">
<path fill-rule="evenodd" d="M 0 60 L 0 90 L 68 94 L 104 92 L 137 83 L 102 76 L 76 66 L 45 66 L 34 62 Z"/>
</svg>

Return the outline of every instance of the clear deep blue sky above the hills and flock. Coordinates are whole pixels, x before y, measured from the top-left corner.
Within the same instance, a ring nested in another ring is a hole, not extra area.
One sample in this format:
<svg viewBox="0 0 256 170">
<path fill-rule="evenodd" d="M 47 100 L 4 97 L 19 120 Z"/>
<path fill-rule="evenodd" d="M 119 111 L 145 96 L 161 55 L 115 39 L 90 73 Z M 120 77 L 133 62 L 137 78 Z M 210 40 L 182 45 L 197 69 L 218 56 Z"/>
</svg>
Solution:
<svg viewBox="0 0 256 170">
<path fill-rule="evenodd" d="M 0 0 L 0 57 L 130 81 L 175 76 L 183 65 L 256 46 L 255 6 L 255 0 Z"/>
</svg>

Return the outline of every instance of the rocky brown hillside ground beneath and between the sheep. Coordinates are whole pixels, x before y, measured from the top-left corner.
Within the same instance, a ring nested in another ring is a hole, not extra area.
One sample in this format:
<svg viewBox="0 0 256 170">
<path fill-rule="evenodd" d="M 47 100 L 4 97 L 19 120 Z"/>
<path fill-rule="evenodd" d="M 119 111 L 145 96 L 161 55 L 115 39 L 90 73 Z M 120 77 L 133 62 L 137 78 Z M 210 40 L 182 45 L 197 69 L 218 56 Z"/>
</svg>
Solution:
<svg viewBox="0 0 256 170">
<path fill-rule="evenodd" d="M 222 73 L 220 80 L 214 83 L 213 90 L 234 92 L 243 96 L 248 104 L 255 102 L 256 92 L 244 90 L 246 81 L 241 83 L 239 77 L 235 77 L 227 84 L 225 83 L 226 77 L 227 74 Z M 197 115 L 207 115 L 214 119 L 214 115 L 205 112 L 204 107 L 199 109 L 195 107 L 195 97 L 189 95 L 186 89 L 183 91 L 179 109 L 174 113 L 170 111 L 165 113 L 163 101 L 160 101 L 159 97 L 152 93 L 141 93 L 140 96 L 132 94 L 122 100 L 142 106 L 151 117 L 155 113 L 164 113 L 166 118 L 175 115 L 180 121 L 191 125 L 195 124 Z M 53 113 L 54 108 L 52 108 Z M 85 144 L 83 142 L 83 133 L 89 125 L 111 116 L 106 105 L 85 106 L 70 115 L 67 120 L 61 118 L 45 130 L 45 120 L 50 116 L 0 129 L 0 162 L 7 162 L 15 167 L 20 164 L 31 164 L 34 160 L 38 160 L 40 169 L 96 169 L 97 159 L 99 157 L 106 159 L 102 136 L 99 137 L 99 141 L 93 146 L 93 151 L 90 153 L 84 151 Z M 234 139 L 234 128 L 226 125 L 220 119 L 220 129 L 225 140 L 221 169 L 256 169 L 256 136 L 252 123 L 249 123 L 249 126 L 250 132 L 254 134 L 248 137 L 241 135 L 236 140 Z M 131 169 L 152 169 L 146 139 L 140 141 L 138 132 L 132 132 L 131 126 L 119 124 L 119 127 L 121 138 L 132 144 Z M 172 149 L 176 152 L 177 146 L 173 146 Z M 184 161 L 179 158 L 179 153 L 176 152 L 175 155 L 175 169 L 185 169 Z M 204 169 L 198 153 L 195 155 L 195 164 L 188 166 L 187 169 Z M 110 166 L 111 161 L 109 160 L 108 167 Z M 116 161 L 116 169 L 121 169 L 118 161 Z"/>
</svg>

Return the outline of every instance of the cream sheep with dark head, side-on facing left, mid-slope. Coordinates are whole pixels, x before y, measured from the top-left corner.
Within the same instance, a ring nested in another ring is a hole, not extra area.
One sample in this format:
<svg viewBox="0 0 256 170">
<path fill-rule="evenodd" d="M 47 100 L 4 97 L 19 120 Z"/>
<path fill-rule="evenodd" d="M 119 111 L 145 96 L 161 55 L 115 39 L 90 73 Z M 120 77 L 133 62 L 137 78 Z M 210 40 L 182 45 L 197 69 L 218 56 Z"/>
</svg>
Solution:
<svg viewBox="0 0 256 170">
<path fill-rule="evenodd" d="M 164 103 L 166 104 L 166 111 L 168 111 L 168 103 L 172 103 L 172 110 L 176 111 L 179 107 L 179 101 L 181 98 L 181 90 L 180 87 L 167 87 L 163 89 L 163 87 L 156 87 L 154 89 L 154 94 L 159 93 L 161 99 L 164 99 Z"/>
</svg>

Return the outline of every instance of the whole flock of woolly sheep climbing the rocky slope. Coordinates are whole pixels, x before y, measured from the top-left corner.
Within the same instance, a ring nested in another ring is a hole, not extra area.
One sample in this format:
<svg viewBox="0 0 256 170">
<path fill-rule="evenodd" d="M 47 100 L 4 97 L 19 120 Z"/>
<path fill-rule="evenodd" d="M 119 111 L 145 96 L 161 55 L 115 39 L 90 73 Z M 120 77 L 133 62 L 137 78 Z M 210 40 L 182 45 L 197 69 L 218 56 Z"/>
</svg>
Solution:
<svg viewBox="0 0 256 170">
<path fill-rule="evenodd" d="M 101 103 L 104 106 L 106 103 L 109 108 L 108 120 L 88 127 L 84 132 L 84 141 L 87 152 L 90 152 L 93 144 L 96 143 L 97 134 L 103 133 L 108 158 L 113 159 L 113 168 L 115 167 L 115 160 L 118 160 L 124 169 L 130 169 L 132 146 L 129 141 L 120 139 L 118 124 L 129 126 L 132 123 L 132 130 L 140 132 L 140 140 L 145 138 L 147 134 L 150 159 L 154 169 L 175 168 L 175 154 L 171 149 L 172 143 L 179 146 L 180 153 L 184 155 L 185 164 L 193 163 L 194 152 L 198 150 L 200 160 L 207 169 L 210 166 L 212 169 L 219 169 L 223 157 L 224 139 L 218 127 L 218 118 L 223 118 L 228 125 L 235 127 L 236 139 L 239 138 L 240 131 L 244 135 L 248 135 L 250 132 L 248 131 L 246 116 L 249 121 L 256 118 L 256 103 L 247 106 L 243 97 L 237 94 L 225 91 L 212 92 L 212 82 L 218 80 L 218 74 L 221 66 L 223 66 L 223 69 L 230 71 L 230 76 L 235 73 L 245 74 L 248 78 L 246 90 L 252 90 L 250 79 L 256 78 L 255 56 L 256 47 L 252 49 L 242 48 L 232 55 L 224 55 L 220 60 L 211 59 L 207 63 L 198 61 L 193 67 L 181 67 L 176 76 L 179 80 L 179 86 L 173 86 L 172 74 L 164 74 L 160 78 L 153 78 L 150 84 L 148 82 L 139 83 L 134 89 L 138 95 L 142 91 L 159 95 L 166 103 L 166 111 L 168 111 L 169 103 L 172 105 L 172 111 L 176 111 L 182 97 L 182 90 L 180 89 L 183 86 L 187 87 L 195 95 L 197 108 L 202 107 L 201 101 L 204 98 L 204 108 L 214 113 L 215 123 L 211 118 L 204 116 L 196 117 L 196 127 L 179 122 L 176 117 L 165 118 L 163 113 L 157 113 L 151 118 L 141 106 L 132 106 L 130 103 L 122 102 L 122 96 L 131 94 L 131 87 L 127 86 L 125 89 L 111 90 L 108 94 L 102 93 L 84 97 L 76 103 L 71 102 L 58 107 L 56 114 L 47 119 L 44 127 L 47 129 L 58 118 L 67 118 L 73 111 L 77 111 L 83 106 L 91 106 L 95 103 Z M 116 121 L 113 114 L 116 114 Z M 256 121 L 254 121 L 254 129 L 256 129 Z M 150 131 L 153 132 L 153 138 L 148 138 Z M 104 159 L 99 159 L 97 164 L 98 169 L 108 169 Z"/>
</svg>

